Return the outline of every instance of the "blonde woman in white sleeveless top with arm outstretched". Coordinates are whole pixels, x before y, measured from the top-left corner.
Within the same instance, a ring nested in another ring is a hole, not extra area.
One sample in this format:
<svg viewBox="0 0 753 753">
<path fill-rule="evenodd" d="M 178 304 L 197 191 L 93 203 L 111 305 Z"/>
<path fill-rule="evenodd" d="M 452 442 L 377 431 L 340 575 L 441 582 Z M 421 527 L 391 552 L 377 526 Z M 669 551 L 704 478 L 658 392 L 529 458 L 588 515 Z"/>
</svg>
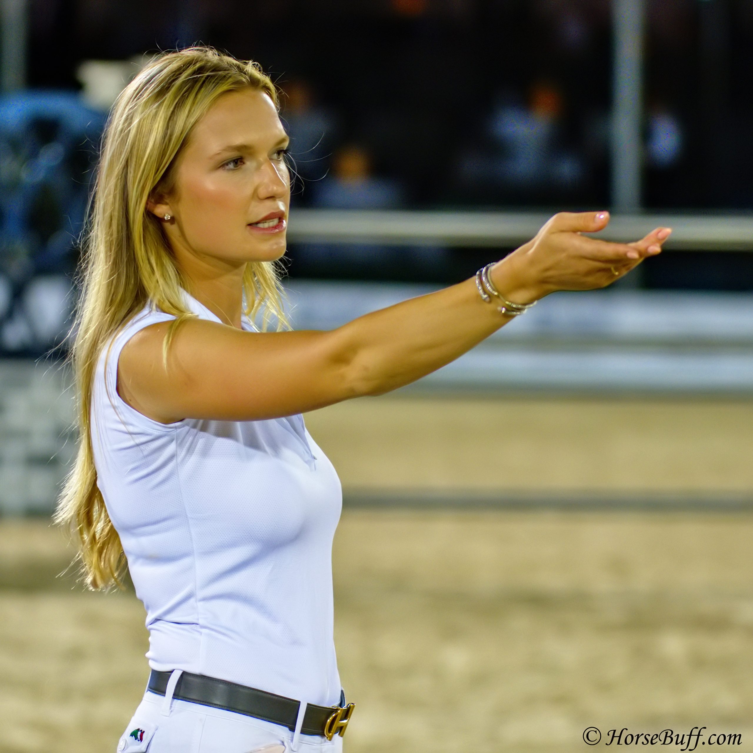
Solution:
<svg viewBox="0 0 753 753">
<path fill-rule="evenodd" d="M 270 79 L 208 48 L 154 59 L 108 122 L 72 352 L 80 447 L 57 520 L 89 586 L 127 561 L 147 611 L 151 675 L 119 751 L 339 751 L 353 710 L 332 639 L 341 489 L 301 413 L 413 382 L 669 235 L 611 244 L 580 234 L 606 213 L 556 215 L 475 279 L 289 331 L 287 144 Z"/>
</svg>

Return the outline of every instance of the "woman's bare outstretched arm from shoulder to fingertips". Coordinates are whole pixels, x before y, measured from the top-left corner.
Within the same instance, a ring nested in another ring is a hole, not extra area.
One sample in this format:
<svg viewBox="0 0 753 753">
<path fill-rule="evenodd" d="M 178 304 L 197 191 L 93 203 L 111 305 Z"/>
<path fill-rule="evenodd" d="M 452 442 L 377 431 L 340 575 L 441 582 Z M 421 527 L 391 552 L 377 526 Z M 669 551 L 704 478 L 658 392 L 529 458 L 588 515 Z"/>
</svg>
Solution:
<svg viewBox="0 0 753 753">
<path fill-rule="evenodd" d="M 556 290 L 603 288 L 660 252 L 669 230 L 631 244 L 581 233 L 602 230 L 605 213 L 562 213 L 492 267 L 508 300 L 531 303 Z M 118 392 L 160 422 L 287 416 L 361 395 L 380 395 L 454 361 L 511 321 L 480 297 L 474 279 L 358 317 L 332 331 L 252 333 L 187 322 L 163 365 L 167 323 L 123 348 Z"/>
</svg>

